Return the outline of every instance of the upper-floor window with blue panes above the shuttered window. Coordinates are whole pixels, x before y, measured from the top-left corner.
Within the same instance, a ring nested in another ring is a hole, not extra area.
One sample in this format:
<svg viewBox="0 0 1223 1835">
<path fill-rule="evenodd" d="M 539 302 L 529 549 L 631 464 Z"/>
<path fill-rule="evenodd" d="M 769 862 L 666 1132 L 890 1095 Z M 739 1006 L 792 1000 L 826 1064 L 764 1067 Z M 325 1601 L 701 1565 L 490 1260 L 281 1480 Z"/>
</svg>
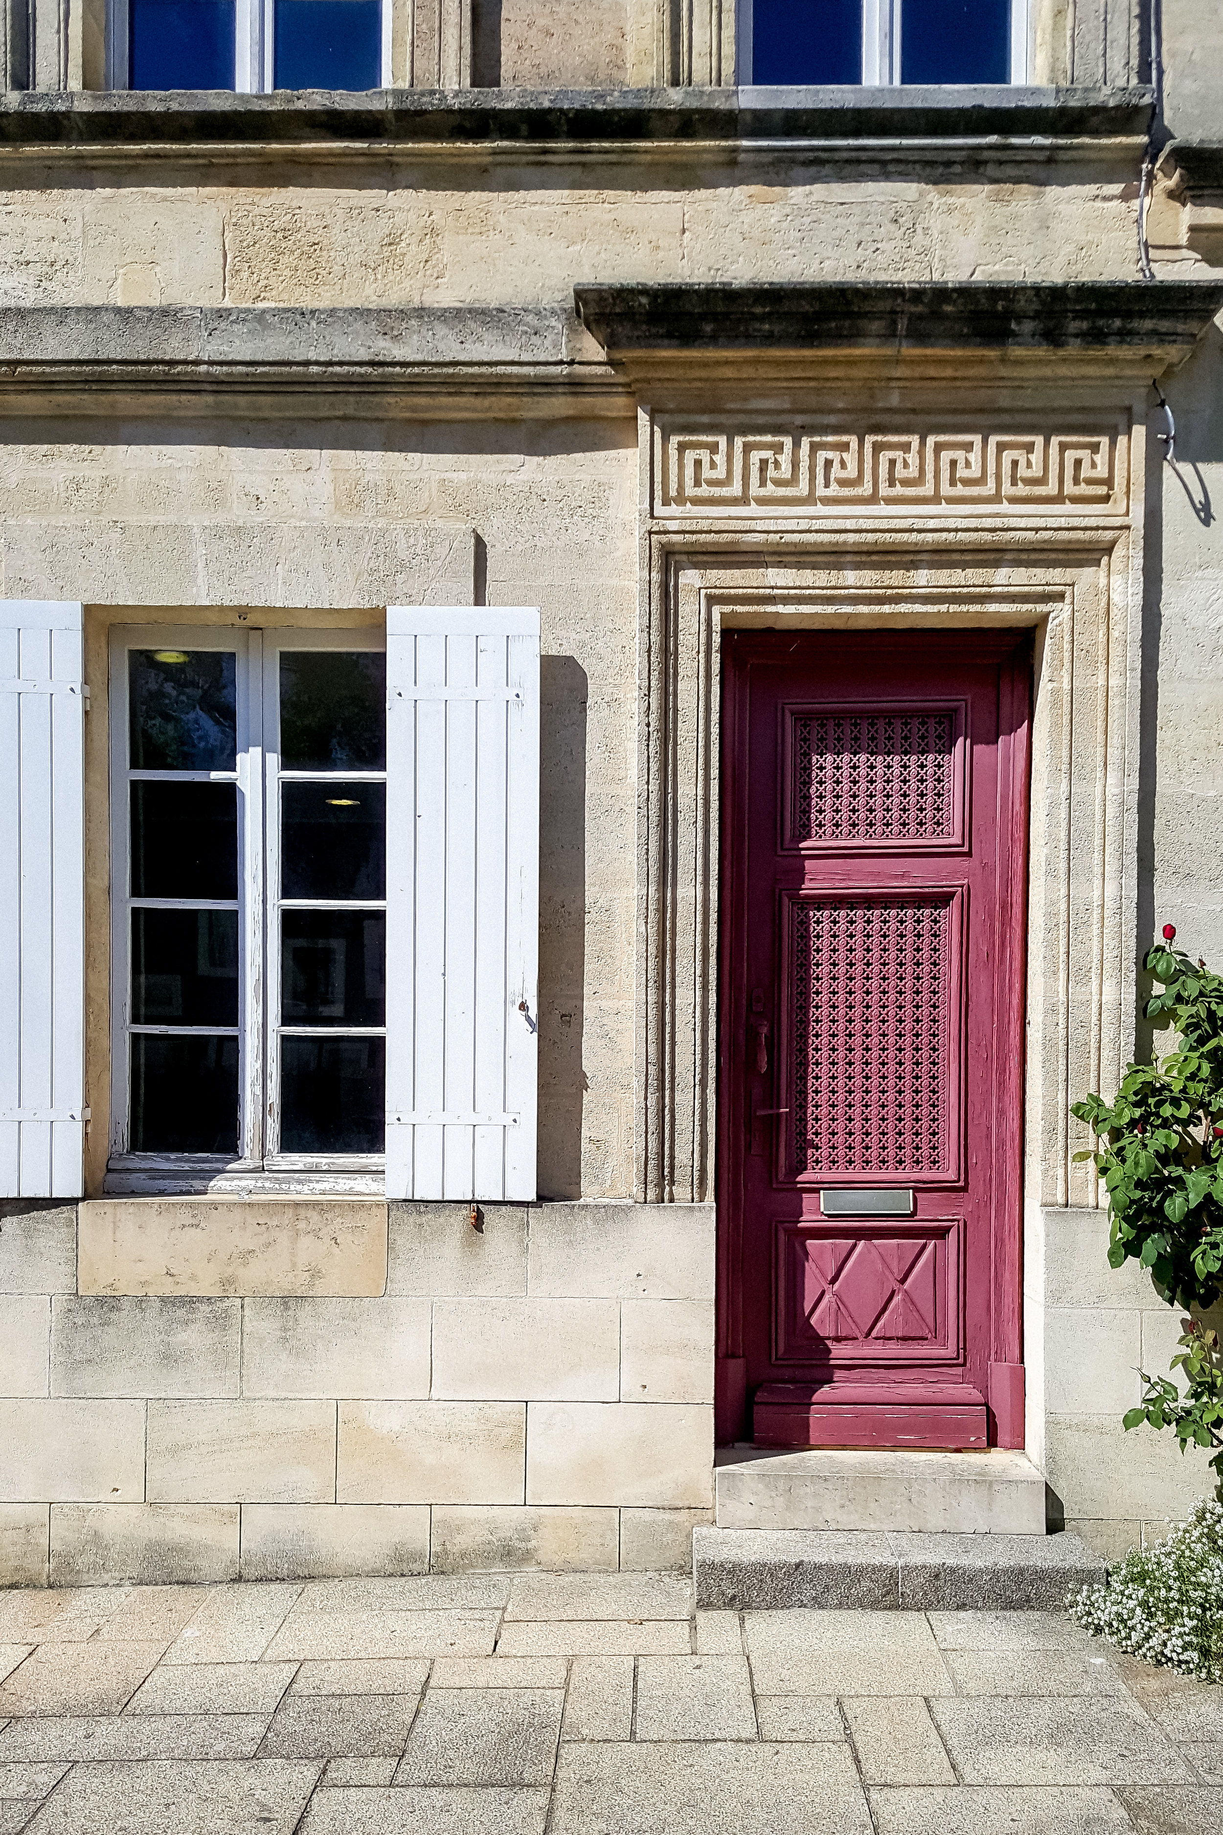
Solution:
<svg viewBox="0 0 1223 1835">
<path fill-rule="evenodd" d="M 381 0 L 110 0 L 116 90 L 374 90 Z"/>
</svg>

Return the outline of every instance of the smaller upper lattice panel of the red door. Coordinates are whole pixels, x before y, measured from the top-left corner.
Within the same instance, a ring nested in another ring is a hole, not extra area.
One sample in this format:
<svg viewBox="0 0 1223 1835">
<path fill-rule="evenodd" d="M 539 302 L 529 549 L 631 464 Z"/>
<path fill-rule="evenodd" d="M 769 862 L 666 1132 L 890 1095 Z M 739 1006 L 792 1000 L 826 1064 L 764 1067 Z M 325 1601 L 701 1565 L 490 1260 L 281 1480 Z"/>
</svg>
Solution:
<svg viewBox="0 0 1223 1835">
<path fill-rule="evenodd" d="M 792 721 L 792 846 L 955 840 L 952 708 L 836 708 Z"/>
</svg>

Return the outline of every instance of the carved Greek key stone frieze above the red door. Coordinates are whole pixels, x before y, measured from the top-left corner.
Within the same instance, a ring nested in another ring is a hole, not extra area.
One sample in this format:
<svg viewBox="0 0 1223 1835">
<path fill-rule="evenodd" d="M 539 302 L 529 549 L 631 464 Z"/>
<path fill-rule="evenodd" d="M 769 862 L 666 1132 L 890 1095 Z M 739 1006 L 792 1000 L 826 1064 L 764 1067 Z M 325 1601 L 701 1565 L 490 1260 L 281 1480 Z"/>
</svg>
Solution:
<svg viewBox="0 0 1223 1835">
<path fill-rule="evenodd" d="M 662 428 L 658 516 L 1124 510 L 1115 433 L 785 433 Z"/>
</svg>

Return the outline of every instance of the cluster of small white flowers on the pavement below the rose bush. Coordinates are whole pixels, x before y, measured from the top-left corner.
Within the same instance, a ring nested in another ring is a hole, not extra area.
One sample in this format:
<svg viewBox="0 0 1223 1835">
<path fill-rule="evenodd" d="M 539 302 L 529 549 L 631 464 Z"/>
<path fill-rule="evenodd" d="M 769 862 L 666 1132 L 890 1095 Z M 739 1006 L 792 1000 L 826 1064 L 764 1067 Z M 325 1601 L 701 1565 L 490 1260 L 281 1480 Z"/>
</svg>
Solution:
<svg viewBox="0 0 1223 1835">
<path fill-rule="evenodd" d="M 1199 1503 L 1166 1541 L 1133 1549 L 1069 1613 L 1118 1650 L 1223 1683 L 1223 1503 Z"/>
</svg>

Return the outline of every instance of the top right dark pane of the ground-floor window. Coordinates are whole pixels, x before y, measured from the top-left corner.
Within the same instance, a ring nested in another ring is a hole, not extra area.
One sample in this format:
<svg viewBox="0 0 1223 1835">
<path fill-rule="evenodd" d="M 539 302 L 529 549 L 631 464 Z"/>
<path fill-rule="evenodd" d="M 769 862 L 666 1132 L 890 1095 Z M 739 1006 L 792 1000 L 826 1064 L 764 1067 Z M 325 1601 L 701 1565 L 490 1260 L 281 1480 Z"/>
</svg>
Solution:
<svg viewBox="0 0 1223 1835">
<path fill-rule="evenodd" d="M 383 771 L 387 657 L 381 650 L 281 655 L 284 771 Z"/>
</svg>

